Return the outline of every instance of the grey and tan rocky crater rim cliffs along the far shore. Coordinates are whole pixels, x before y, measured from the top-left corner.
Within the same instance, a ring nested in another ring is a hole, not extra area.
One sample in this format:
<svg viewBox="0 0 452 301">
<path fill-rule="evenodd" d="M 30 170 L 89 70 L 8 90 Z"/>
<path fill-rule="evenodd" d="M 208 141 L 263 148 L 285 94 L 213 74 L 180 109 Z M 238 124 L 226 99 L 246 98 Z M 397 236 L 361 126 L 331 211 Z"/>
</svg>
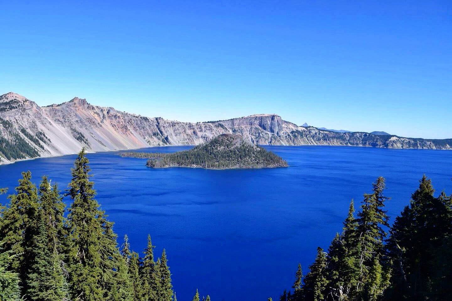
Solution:
<svg viewBox="0 0 452 301">
<path fill-rule="evenodd" d="M 335 133 L 300 127 L 278 115 L 187 123 L 128 114 L 74 99 L 40 107 L 15 93 L 0 96 L 0 163 L 18 159 L 165 145 L 197 145 L 219 134 L 238 134 L 263 145 L 353 145 L 451 149 L 452 139 L 428 140 Z"/>
</svg>

